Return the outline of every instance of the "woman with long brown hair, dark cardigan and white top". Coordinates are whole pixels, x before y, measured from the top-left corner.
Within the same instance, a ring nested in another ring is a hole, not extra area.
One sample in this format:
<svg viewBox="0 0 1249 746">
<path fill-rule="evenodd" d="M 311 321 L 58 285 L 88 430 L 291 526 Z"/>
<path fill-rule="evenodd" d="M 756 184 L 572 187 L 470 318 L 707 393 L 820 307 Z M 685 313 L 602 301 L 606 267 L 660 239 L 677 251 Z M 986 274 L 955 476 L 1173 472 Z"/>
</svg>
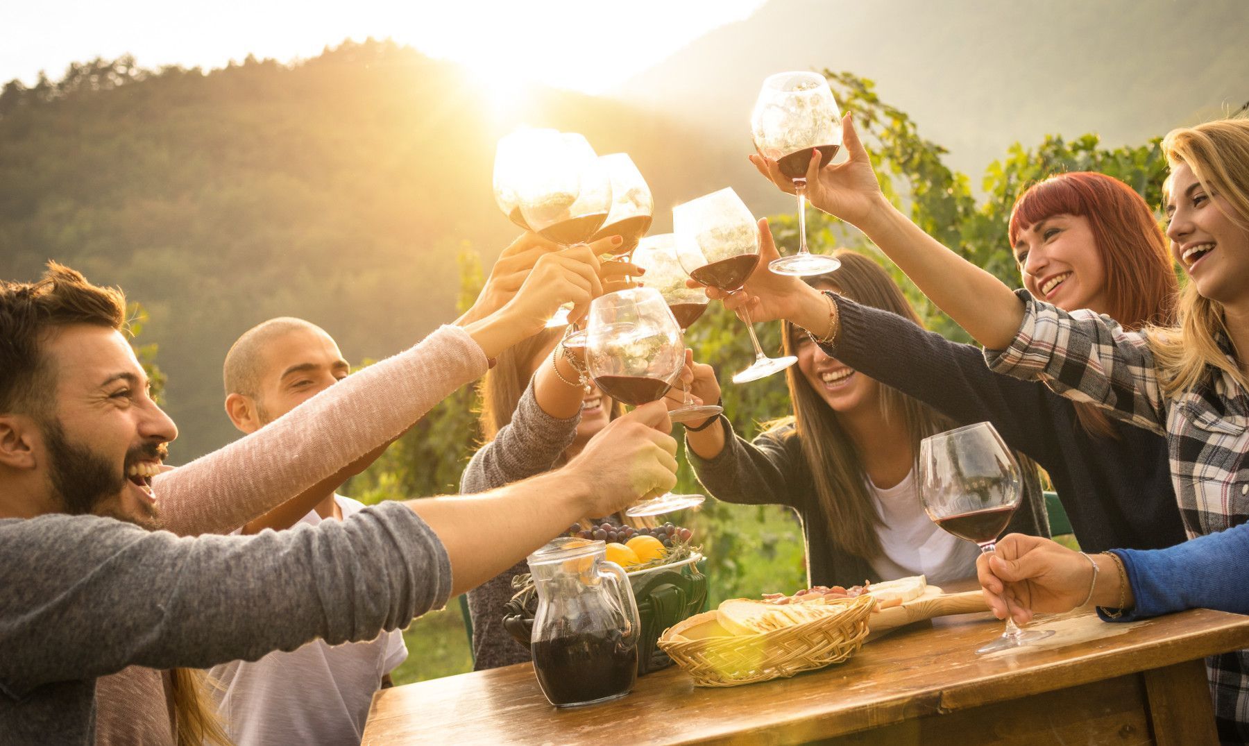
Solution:
<svg viewBox="0 0 1249 746">
<path fill-rule="evenodd" d="M 771 236 L 764 231 L 764 246 Z M 841 269 L 811 280 L 866 306 L 919 320 L 902 290 L 874 261 L 839 251 Z M 764 259 L 766 261 L 766 259 Z M 784 324 L 786 371 L 793 416 L 748 442 L 723 416 L 686 429 L 689 460 L 718 500 L 793 507 L 807 541 L 812 585 L 858 585 L 927 575 L 933 582 L 970 577 L 975 545 L 945 534 L 923 510 L 917 490 L 919 441 L 954 424 L 819 350 Z M 694 365 L 693 395 L 716 401 L 719 385 Z M 1022 461 L 1024 499 L 1014 531 L 1048 536 L 1035 467 Z"/>
</svg>

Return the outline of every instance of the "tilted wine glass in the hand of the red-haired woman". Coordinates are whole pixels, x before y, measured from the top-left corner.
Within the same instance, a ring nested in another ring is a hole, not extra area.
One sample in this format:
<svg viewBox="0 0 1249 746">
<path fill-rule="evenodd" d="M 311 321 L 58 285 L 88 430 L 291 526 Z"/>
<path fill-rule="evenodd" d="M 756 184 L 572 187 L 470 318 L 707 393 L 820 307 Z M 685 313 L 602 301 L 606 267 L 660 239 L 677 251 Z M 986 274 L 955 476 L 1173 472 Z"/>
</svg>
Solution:
<svg viewBox="0 0 1249 746">
<path fill-rule="evenodd" d="M 689 276 L 703 285 L 734 294 L 759 264 L 759 226 L 732 187 L 673 207 L 672 229 L 677 235 L 691 239 L 677 244 L 677 259 Z M 734 384 L 757 381 L 798 362 L 793 355 L 764 355 L 759 337 L 754 336 L 751 314 L 744 307 L 738 312 L 751 332 L 754 362 L 733 376 Z"/>
</svg>

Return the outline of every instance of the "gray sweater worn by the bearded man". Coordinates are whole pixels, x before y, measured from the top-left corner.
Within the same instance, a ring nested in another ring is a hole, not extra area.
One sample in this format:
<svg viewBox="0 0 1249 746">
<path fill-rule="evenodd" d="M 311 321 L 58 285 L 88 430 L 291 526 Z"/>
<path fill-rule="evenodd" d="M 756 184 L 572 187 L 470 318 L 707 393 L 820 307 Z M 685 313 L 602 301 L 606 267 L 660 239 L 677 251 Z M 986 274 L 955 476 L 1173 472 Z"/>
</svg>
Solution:
<svg viewBox="0 0 1249 746">
<path fill-rule="evenodd" d="M 0 520 L 0 742 L 90 744 L 95 680 L 371 640 L 446 604 L 451 564 L 410 509 L 256 536 L 95 516 Z"/>
</svg>

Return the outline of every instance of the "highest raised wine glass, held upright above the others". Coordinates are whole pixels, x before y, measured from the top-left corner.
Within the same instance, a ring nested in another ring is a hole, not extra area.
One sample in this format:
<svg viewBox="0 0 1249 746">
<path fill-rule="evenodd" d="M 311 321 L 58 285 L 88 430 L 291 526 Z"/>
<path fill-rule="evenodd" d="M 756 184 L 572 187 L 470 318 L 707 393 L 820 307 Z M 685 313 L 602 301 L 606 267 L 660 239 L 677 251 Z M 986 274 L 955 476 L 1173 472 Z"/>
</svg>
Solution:
<svg viewBox="0 0 1249 746">
<path fill-rule="evenodd" d="M 759 155 L 777 161 L 793 180 L 798 197 L 798 252 L 772 260 L 779 275 L 823 275 L 842 266 L 832 256 L 807 251 L 807 165 L 819 150 L 819 167 L 842 146 L 841 111 L 828 81 L 817 72 L 777 72 L 763 81 L 751 114 L 751 134 Z"/>
</svg>

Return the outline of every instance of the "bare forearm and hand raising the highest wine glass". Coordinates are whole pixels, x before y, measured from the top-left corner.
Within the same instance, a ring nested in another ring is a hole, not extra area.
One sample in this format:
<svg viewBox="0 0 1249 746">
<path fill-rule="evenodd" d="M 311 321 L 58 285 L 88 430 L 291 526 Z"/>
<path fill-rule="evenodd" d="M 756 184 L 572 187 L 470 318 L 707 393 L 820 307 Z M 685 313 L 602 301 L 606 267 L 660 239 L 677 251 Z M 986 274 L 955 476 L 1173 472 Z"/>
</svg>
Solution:
<svg viewBox="0 0 1249 746">
<path fill-rule="evenodd" d="M 1023 309 L 1010 289 L 889 204 L 849 114 L 842 119 L 842 139 L 849 154 L 846 162 L 821 169 L 818 151 L 812 155 L 807 169 L 811 204 L 867 234 L 924 295 L 982 345 L 999 350 L 1010 344 L 1023 320 Z M 793 191 L 793 181 L 774 160 L 752 155 L 751 162 L 782 190 Z"/>
</svg>

